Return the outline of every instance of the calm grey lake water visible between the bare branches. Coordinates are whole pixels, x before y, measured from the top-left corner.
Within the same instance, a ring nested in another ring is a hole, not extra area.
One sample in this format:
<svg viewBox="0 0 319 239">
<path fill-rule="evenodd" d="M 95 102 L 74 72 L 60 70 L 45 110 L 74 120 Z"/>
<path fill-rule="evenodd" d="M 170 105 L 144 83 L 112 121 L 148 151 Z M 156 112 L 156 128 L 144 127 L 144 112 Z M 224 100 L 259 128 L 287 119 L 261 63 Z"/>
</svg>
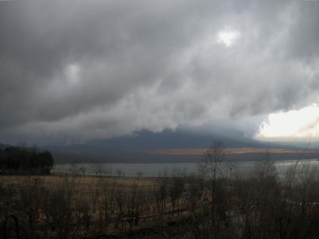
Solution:
<svg viewBox="0 0 319 239">
<path fill-rule="evenodd" d="M 311 159 L 307 161 L 311 168 L 319 168 L 319 161 L 316 159 Z M 248 172 L 256 162 L 238 162 L 228 165 L 235 173 L 236 171 L 240 173 Z M 279 174 L 283 174 L 289 166 L 296 163 L 296 160 L 285 160 L 285 161 L 276 161 L 275 165 Z M 57 164 L 53 167 L 53 172 L 69 172 L 70 164 Z M 84 167 L 86 169 L 86 175 L 95 175 L 94 165 L 89 163 L 76 164 L 78 168 Z M 138 172 L 143 172 L 143 176 L 146 177 L 156 177 L 159 176 L 159 172 L 167 169 L 168 174 L 170 174 L 175 169 L 185 170 L 187 174 L 195 173 L 197 169 L 196 163 L 111 163 L 103 164 L 103 167 L 106 169 L 108 167 L 112 168 L 112 176 L 117 176 L 117 171 L 121 169 L 125 176 L 134 177 L 137 176 Z M 302 164 L 299 163 L 298 167 L 302 167 Z M 229 169 L 225 170 L 224 173 L 228 174 Z M 103 174 L 102 174 L 103 175 Z"/>
</svg>

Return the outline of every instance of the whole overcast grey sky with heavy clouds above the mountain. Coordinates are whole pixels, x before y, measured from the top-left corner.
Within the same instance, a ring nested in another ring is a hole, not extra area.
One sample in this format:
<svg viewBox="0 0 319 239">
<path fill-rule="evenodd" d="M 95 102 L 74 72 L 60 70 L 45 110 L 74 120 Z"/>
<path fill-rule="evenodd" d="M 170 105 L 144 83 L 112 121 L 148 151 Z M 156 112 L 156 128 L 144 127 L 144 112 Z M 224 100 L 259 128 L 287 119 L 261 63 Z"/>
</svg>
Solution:
<svg viewBox="0 0 319 239">
<path fill-rule="evenodd" d="M 181 125 L 318 139 L 318 102 L 319 1 L 0 1 L 2 142 Z"/>
</svg>

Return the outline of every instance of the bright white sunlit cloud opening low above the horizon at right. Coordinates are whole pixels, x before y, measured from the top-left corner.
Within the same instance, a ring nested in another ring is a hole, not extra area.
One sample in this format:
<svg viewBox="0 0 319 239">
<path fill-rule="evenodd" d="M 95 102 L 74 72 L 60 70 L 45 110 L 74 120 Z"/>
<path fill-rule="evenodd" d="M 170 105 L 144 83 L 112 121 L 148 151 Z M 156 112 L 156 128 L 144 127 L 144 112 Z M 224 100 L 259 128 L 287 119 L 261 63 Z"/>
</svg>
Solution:
<svg viewBox="0 0 319 239">
<path fill-rule="evenodd" d="M 270 114 L 255 135 L 260 140 L 318 140 L 319 106 Z"/>
</svg>

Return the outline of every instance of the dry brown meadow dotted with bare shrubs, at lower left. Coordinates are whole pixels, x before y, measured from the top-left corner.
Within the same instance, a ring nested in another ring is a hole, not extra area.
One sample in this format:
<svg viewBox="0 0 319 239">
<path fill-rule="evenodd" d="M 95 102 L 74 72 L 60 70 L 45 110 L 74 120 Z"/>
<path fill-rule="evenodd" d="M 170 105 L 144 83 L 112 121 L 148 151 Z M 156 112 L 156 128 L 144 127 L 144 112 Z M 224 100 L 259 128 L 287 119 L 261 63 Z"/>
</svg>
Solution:
<svg viewBox="0 0 319 239">
<path fill-rule="evenodd" d="M 7 238 L 16 234 L 16 226 L 23 238 L 95 238 L 154 230 L 159 221 L 165 225 L 180 220 L 188 211 L 185 200 L 170 204 L 168 181 L 167 175 L 1 175 L 1 231 Z"/>
</svg>

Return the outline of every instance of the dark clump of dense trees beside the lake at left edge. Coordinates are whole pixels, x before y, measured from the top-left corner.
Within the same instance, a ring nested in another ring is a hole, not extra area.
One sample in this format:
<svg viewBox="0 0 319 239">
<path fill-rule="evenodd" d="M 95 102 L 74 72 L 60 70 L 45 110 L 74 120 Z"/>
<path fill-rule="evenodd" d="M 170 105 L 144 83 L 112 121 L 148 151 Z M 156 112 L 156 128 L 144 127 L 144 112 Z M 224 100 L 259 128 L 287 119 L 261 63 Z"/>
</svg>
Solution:
<svg viewBox="0 0 319 239">
<path fill-rule="evenodd" d="M 37 171 L 49 174 L 53 167 L 52 154 L 45 150 L 38 152 L 35 148 L 7 147 L 0 150 L 0 172 Z"/>
</svg>

